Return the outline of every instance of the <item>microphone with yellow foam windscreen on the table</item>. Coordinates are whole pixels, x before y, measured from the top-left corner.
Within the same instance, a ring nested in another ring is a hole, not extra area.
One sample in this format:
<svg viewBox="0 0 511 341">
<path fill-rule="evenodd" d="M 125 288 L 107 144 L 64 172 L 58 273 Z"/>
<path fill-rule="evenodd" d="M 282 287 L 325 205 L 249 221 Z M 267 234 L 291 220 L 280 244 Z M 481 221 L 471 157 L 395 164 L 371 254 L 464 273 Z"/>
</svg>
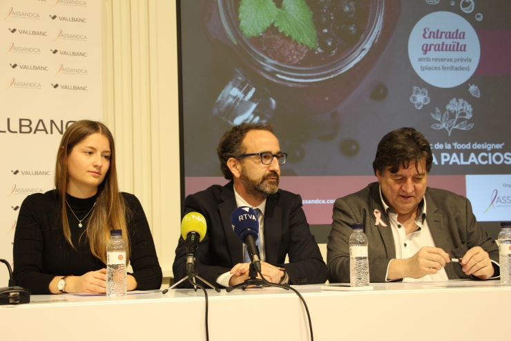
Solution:
<svg viewBox="0 0 511 341">
<path fill-rule="evenodd" d="M 181 235 L 186 241 L 186 272 L 190 275 L 195 267 L 197 243 L 206 235 L 206 219 L 198 212 L 187 213 L 181 222 Z"/>
</svg>

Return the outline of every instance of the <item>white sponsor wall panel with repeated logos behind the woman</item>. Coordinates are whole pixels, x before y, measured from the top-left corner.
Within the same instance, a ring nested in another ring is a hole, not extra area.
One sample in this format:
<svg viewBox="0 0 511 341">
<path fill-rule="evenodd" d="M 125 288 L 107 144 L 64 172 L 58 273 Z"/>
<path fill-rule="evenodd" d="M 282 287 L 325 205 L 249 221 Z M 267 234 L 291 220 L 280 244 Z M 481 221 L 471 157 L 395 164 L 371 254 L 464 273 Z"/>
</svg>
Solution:
<svg viewBox="0 0 511 341">
<path fill-rule="evenodd" d="M 62 133 L 102 120 L 100 1 L 0 1 L 0 103 L 0 258 L 12 264 L 19 208 L 54 187 Z"/>
</svg>

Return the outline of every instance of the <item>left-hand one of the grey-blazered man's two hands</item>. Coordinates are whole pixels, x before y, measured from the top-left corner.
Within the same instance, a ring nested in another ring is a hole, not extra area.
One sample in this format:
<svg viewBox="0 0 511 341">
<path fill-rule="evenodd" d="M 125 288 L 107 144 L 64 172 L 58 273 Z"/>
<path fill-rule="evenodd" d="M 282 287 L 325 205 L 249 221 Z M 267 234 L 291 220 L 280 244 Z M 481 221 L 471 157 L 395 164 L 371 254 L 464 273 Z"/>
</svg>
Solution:
<svg viewBox="0 0 511 341">
<path fill-rule="evenodd" d="M 434 275 L 450 261 L 449 255 L 441 248 L 423 246 L 412 257 L 392 260 L 387 279 L 393 281 L 405 277 L 421 278 L 425 275 Z"/>
</svg>

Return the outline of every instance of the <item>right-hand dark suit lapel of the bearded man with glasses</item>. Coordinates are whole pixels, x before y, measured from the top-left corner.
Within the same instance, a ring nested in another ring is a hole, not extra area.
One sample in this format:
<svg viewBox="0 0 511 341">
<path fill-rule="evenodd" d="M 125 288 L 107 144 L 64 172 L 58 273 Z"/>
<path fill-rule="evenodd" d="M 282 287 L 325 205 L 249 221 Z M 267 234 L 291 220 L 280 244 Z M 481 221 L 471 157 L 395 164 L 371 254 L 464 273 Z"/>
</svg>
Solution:
<svg viewBox="0 0 511 341">
<path fill-rule="evenodd" d="M 264 255 L 269 264 L 278 264 L 278 249 L 282 237 L 282 210 L 276 205 L 278 194 L 267 198 L 264 208 Z"/>
</svg>

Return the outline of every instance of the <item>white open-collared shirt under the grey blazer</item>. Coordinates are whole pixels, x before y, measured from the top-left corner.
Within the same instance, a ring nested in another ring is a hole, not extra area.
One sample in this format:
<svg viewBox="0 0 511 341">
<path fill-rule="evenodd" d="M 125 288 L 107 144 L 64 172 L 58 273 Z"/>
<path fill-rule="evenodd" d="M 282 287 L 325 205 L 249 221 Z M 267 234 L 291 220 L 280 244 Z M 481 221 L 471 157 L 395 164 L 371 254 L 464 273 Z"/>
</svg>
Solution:
<svg viewBox="0 0 511 341">
<path fill-rule="evenodd" d="M 390 228 L 392 229 L 392 237 L 394 237 L 394 247 L 396 248 L 396 259 L 407 259 L 415 255 L 418 250 L 421 250 L 423 246 L 432 246 L 436 247 L 433 236 L 431 234 L 430 227 L 427 225 L 426 220 L 426 198 L 423 197 L 419 206 L 422 205 L 421 213 L 418 214 L 415 219 L 415 223 L 417 224 L 417 229 L 406 235 L 405 227 L 398 222 L 398 214 L 392 211 L 387 203 L 383 200 L 383 195 L 381 194 L 381 185 L 380 185 L 380 199 L 383 204 L 383 208 L 389 214 Z M 389 261 L 389 265 L 387 266 L 387 275 L 385 276 L 385 280 L 387 280 L 389 275 L 389 266 L 392 262 Z M 447 281 L 449 277 L 447 277 L 447 273 L 445 272 L 445 268 L 441 268 L 434 275 L 425 275 L 421 278 L 411 278 L 405 277 L 403 278 L 403 282 L 432 282 L 432 281 Z"/>
</svg>

